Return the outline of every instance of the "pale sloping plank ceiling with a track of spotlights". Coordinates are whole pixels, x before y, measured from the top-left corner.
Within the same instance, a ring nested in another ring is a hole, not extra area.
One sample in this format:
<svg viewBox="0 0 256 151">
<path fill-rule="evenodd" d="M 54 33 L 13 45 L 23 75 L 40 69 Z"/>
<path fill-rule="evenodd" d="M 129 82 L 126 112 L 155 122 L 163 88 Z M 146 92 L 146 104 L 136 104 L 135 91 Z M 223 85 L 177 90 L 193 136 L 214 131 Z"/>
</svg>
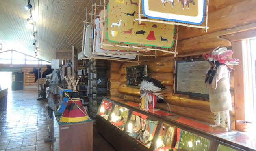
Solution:
<svg viewBox="0 0 256 151">
<path fill-rule="evenodd" d="M 92 4 L 103 0 L 31 0 L 34 31 L 28 28 L 28 0 L 0 0 L 0 40 L 3 49 L 13 49 L 51 61 L 56 50 L 82 50 L 84 21 L 90 21 Z M 35 32 L 34 39 L 31 38 Z M 6 46 L 6 45 L 8 46 Z"/>
</svg>

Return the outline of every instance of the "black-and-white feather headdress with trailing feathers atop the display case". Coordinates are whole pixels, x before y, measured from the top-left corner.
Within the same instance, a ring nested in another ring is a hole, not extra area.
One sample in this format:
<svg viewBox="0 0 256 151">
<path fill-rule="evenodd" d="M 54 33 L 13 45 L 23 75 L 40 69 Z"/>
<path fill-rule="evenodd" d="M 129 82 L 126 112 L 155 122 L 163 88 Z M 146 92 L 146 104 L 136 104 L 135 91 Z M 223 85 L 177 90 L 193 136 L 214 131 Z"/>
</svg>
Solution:
<svg viewBox="0 0 256 151">
<path fill-rule="evenodd" d="M 164 95 L 162 95 L 163 93 L 160 92 L 165 89 L 166 88 L 163 84 L 161 84 L 161 81 L 158 81 L 155 78 L 149 78 L 148 76 L 145 76 L 144 80 L 141 82 L 140 95 L 141 95 L 141 98 L 143 96 L 145 96 L 145 98 L 146 98 L 145 104 L 148 104 L 148 101 L 150 100 L 149 94 L 154 94 L 156 96 L 158 103 L 163 103 L 163 102 L 167 103 L 167 101 L 163 98 L 163 96 L 164 96 Z M 167 96 L 165 96 L 165 97 L 167 97 Z M 167 103 L 167 105 L 169 106 L 168 103 Z M 169 107 L 169 109 L 167 107 L 167 110 L 171 111 L 170 107 Z"/>
</svg>

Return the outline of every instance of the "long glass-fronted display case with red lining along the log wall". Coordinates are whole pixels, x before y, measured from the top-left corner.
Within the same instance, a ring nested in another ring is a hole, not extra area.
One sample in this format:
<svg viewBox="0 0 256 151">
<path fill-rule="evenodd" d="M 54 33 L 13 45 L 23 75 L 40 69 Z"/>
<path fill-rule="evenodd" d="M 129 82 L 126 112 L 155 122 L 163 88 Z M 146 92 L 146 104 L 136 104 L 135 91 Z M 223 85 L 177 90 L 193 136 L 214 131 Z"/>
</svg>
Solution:
<svg viewBox="0 0 256 151">
<path fill-rule="evenodd" d="M 213 130 L 200 121 L 138 103 L 104 97 L 96 129 L 117 151 L 256 151 L 255 136 Z"/>
</svg>

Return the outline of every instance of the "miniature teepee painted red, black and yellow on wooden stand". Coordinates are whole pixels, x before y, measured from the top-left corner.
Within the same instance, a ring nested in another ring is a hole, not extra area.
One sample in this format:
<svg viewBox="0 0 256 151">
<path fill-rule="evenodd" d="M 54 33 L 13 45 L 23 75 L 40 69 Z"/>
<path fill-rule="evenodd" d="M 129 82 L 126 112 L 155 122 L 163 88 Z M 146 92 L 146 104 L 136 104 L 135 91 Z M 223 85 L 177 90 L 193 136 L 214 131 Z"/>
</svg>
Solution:
<svg viewBox="0 0 256 151">
<path fill-rule="evenodd" d="M 64 96 L 69 98 L 67 106 L 61 115 L 60 122 L 82 122 L 89 119 L 87 112 L 85 111 L 84 107 L 82 106 L 82 102 L 76 92 L 76 86 L 78 84 L 78 79 L 76 80 L 74 77 L 69 77 L 73 86 L 73 92 L 65 92 Z"/>
</svg>

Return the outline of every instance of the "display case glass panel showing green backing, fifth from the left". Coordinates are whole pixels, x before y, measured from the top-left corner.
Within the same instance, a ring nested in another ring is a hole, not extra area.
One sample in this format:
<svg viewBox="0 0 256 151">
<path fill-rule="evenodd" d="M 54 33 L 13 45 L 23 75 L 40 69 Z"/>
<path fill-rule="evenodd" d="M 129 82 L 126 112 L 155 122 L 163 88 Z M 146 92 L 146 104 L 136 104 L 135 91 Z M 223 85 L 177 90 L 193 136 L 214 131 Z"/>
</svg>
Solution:
<svg viewBox="0 0 256 151">
<path fill-rule="evenodd" d="M 191 151 L 208 151 L 209 147 L 210 140 L 191 132 L 180 130 L 178 149 L 188 149 Z"/>
</svg>

